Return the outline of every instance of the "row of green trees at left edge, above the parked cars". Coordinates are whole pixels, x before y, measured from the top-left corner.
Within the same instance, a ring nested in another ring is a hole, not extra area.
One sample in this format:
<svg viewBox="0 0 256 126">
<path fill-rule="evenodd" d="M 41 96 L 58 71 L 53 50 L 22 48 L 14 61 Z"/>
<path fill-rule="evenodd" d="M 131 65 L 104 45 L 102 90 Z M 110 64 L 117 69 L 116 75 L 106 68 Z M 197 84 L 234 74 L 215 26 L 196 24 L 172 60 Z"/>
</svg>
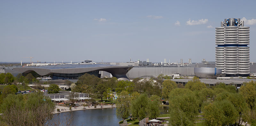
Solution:
<svg viewBox="0 0 256 126">
<path fill-rule="evenodd" d="M 25 77 L 19 73 L 16 77 L 13 77 L 11 73 L 1 73 L 0 74 L 0 84 L 21 84 L 21 83 L 39 83 L 31 73 L 28 73 Z"/>
</svg>

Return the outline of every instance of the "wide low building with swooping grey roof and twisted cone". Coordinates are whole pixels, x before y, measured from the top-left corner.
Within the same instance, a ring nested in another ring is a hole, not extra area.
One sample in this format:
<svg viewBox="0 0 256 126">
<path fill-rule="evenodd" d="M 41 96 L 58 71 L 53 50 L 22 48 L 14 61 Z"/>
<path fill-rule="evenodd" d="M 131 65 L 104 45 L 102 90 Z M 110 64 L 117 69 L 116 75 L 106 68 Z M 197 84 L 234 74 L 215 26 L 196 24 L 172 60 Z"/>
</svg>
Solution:
<svg viewBox="0 0 256 126">
<path fill-rule="evenodd" d="M 85 73 L 100 77 L 99 71 L 107 71 L 117 79 L 129 80 L 126 76 L 126 73 L 132 68 L 133 66 L 119 66 L 109 64 L 61 64 L 46 66 L 28 66 L 22 68 L 14 68 L 14 70 L 22 73 L 29 73 L 31 71 L 35 71 L 41 76 L 51 76 L 53 80 L 78 79 Z"/>
</svg>

